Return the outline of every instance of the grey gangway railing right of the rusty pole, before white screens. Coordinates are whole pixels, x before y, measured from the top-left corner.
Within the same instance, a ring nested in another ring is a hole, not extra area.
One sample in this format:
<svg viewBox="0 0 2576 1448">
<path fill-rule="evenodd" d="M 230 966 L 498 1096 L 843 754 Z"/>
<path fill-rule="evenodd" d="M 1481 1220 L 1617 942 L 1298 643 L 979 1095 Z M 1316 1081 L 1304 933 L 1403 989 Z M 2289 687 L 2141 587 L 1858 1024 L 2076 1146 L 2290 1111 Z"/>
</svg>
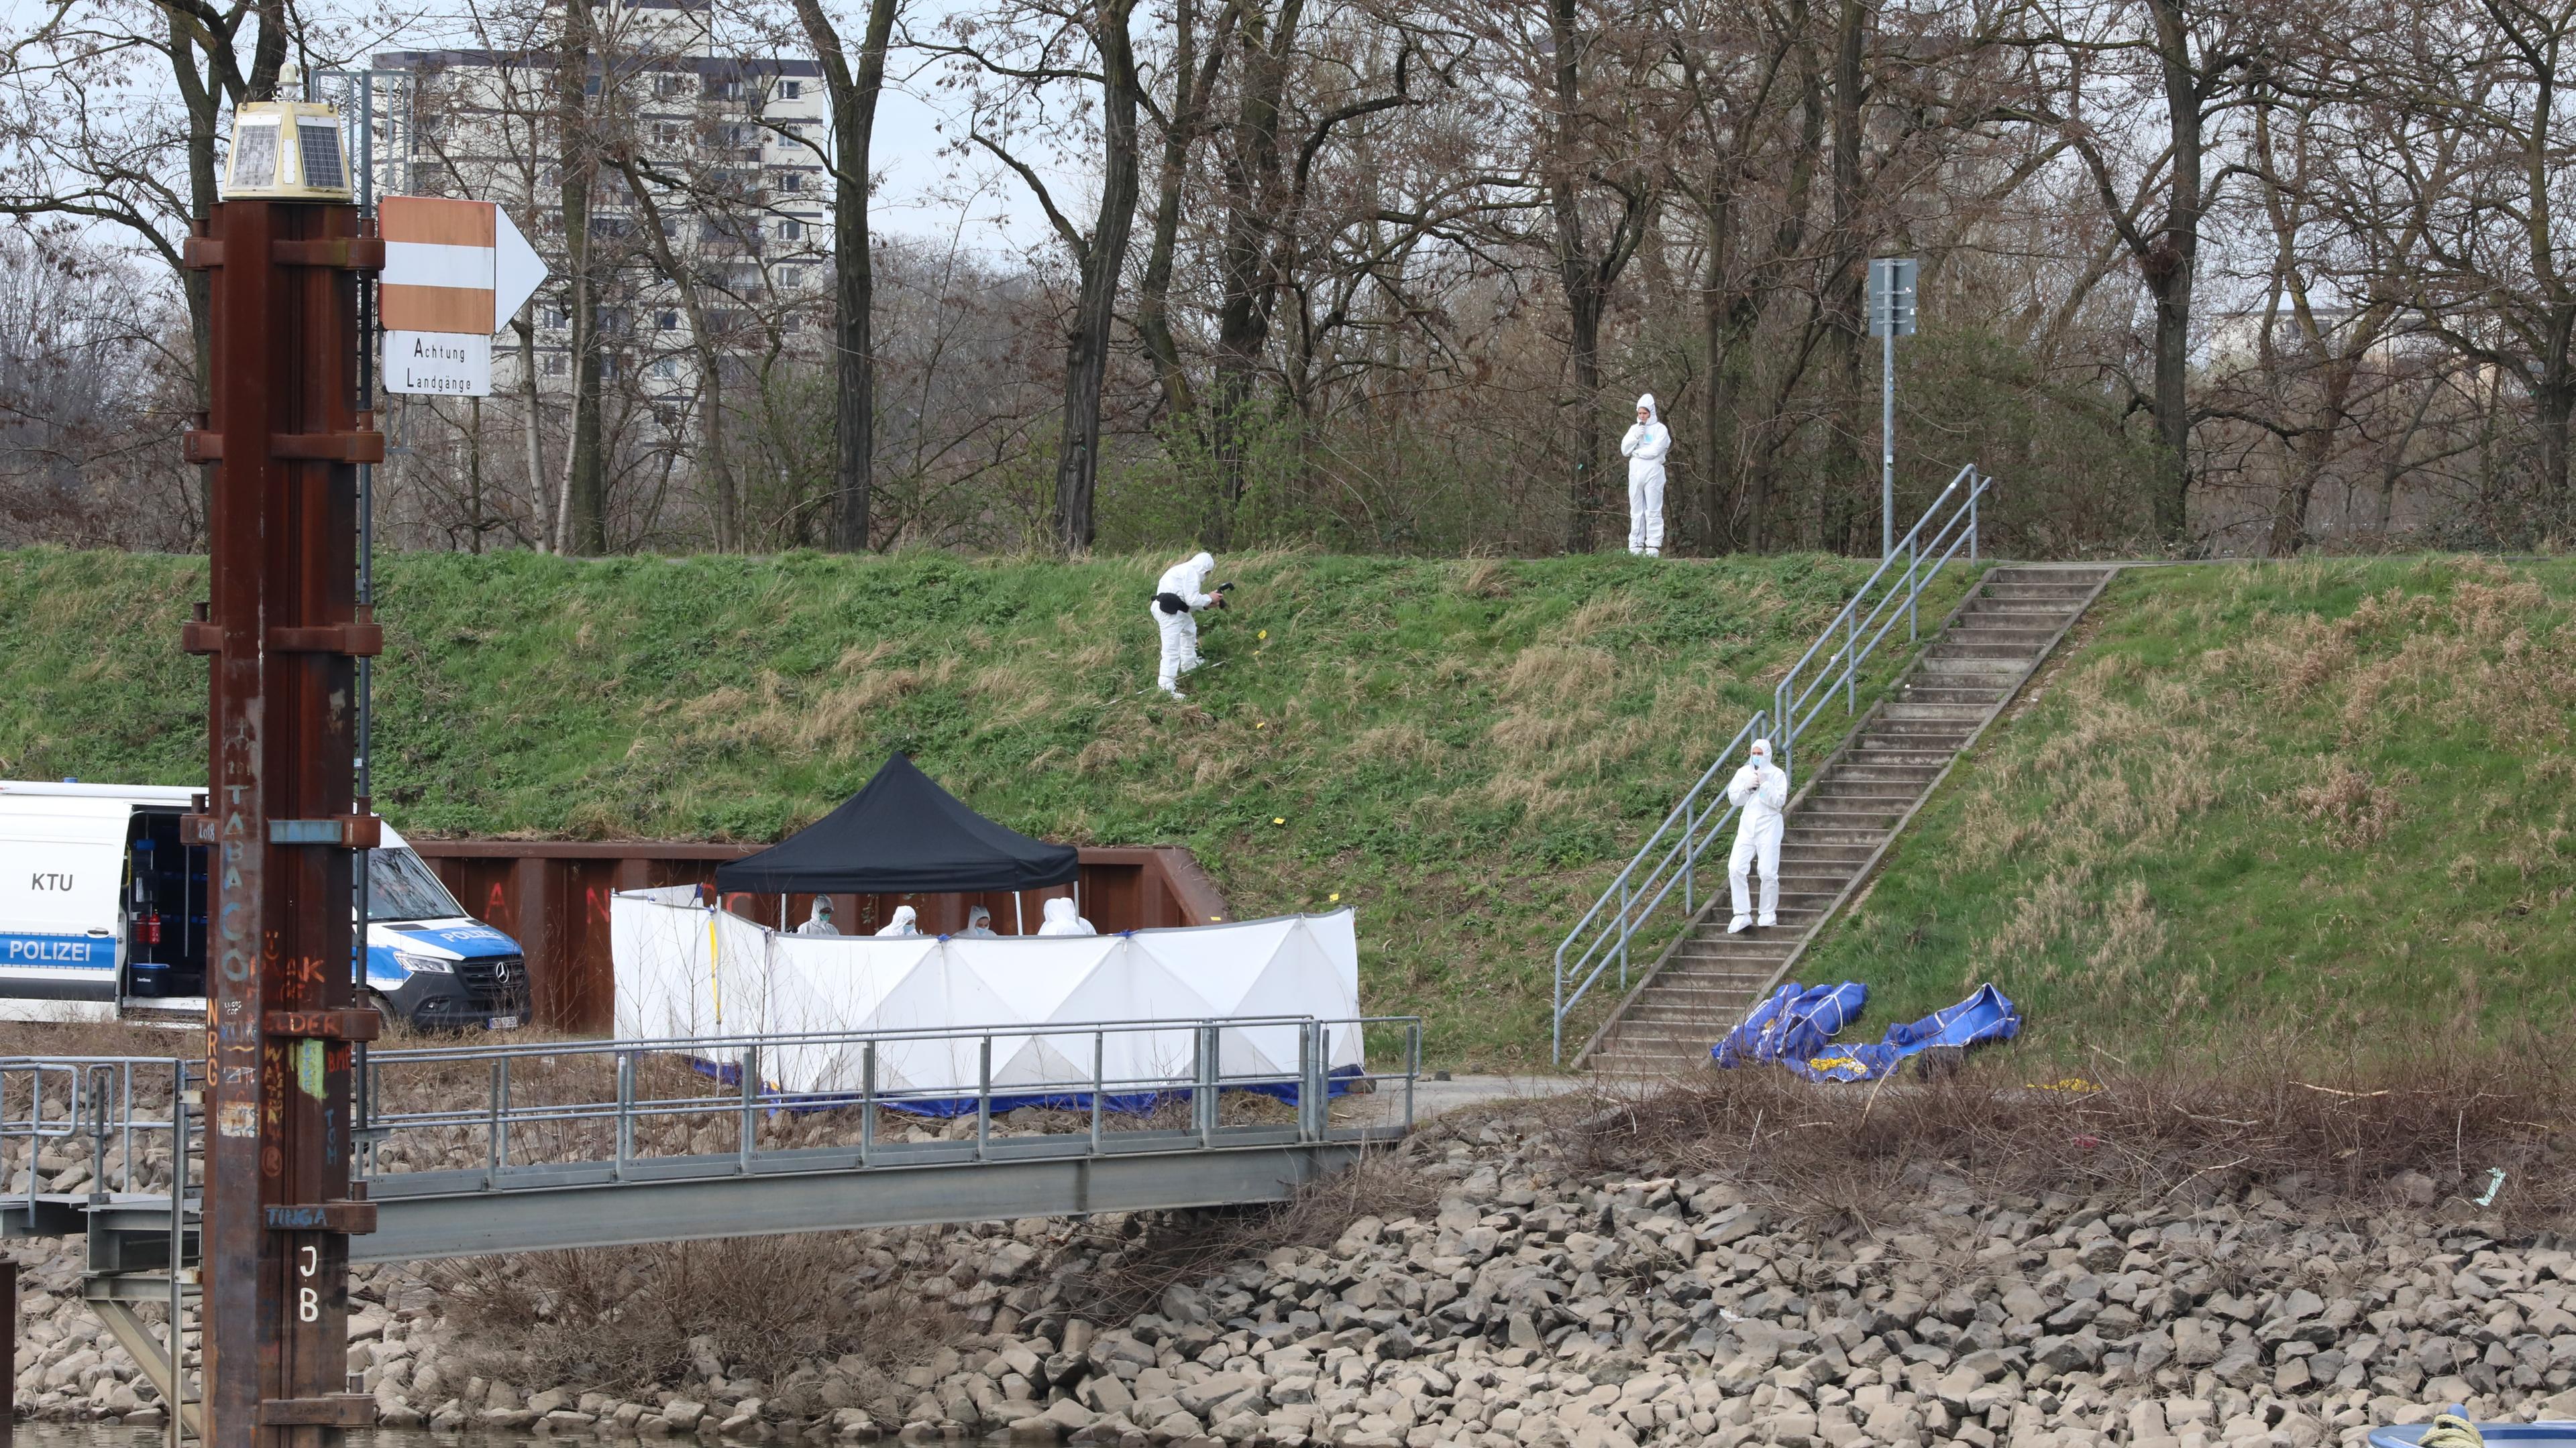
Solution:
<svg viewBox="0 0 2576 1448">
<path fill-rule="evenodd" d="M 1334 1074 L 1334 1041 L 1370 1028 L 1399 1036 L 1401 1062 Z M 1329 1113 L 1352 1087 L 1401 1092 L 1383 1116 L 1409 1129 L 1419 1074 L 1422 1020 L 1409 1015 L 428 1046 L 366 1054 L 355 1134 L 368 1193 L 389 1201 L 562 1185 L 567 1172 L 618 1183 L 914 1162 L 920 1136 L 958 1162 L 1030 1136 L 1082 1154 L 1327 1141 L 1360 1134 Z M 902 1139 L 881 1139 L 889 1129 Z"/>
</svg>

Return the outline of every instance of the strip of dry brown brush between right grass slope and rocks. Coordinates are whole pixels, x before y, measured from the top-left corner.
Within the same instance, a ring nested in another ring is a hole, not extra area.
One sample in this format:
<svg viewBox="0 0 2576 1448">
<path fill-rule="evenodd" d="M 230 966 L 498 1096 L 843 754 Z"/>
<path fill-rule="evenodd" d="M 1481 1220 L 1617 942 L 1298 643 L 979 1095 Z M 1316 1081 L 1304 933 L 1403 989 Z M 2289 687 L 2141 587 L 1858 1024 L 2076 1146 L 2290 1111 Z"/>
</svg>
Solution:
<svg viewBox="0 0 2576 1448">
<path fill-rule="evenodd" d="M 1705 1072 L 1556 1110 L 1584 1113 L 1584 1170 L 1721 1172 L 1785 1208 L 1862 1224 L 1888 1219 L 1932 1172 L 1986 1198 L 2099 1196 L 2133 1214 L 2187 1211 L 2249 1185 L 2375 1211 L 2401 1206 L 2401 1177 L 2421 1172 L 2439 1211 L 2517 1229 L 2576 1219 L 2566 1170 L 2576 1072 L 2540 1041 L 2509 1054 L 2427 1046 L 2403 1064 L 2342 1072 L 2257 1049 L 2228 1069 L 2061 1082 L 1968 1069 L 1819 1087 L 1777 1069 Z M 2494 1167 L 2504 1188 L 2478 1206 Z"/>
</svg>

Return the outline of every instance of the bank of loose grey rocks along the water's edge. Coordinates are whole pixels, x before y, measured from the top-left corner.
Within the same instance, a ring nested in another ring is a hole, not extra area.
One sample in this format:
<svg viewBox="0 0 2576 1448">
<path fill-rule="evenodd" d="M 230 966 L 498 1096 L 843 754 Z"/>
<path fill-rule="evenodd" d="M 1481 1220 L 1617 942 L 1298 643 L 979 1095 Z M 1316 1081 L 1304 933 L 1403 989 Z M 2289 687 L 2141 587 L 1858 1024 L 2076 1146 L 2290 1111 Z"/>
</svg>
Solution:
<svg viewBox="0 0 2576 1448">
<path fill-rule="evenodd" d="M 894 1358 L 755 1378 L 701 1340 L 652 1391 L 616 1363 L 507 1381 L 510 1345 L 435 1278 L 368 1270 L 350 1371 L 386 1422 L 585 1438 L 2316 1448 L 2445 1402 L 2576 1417 L 2576 1255 L 2432 1177 L 2362 1208 L 2298 1183 L 1989 1196 L 1919 1167 L 1855 1224 L 1728 1172 L 1587 1167 L 1589 1129 L 1458 1118 L 1376 1167 L 1414 1177 L 1419 1211 L 1247 1250 L 1113 1322 L 1084 1304 L 1136 1281 L 1141 1239 L 1020 1221 L 845 1257 L 956 1324 Z M 21 1260 L 21 1412 L 155 1422 L 77 1262 Z"/>
</svg>

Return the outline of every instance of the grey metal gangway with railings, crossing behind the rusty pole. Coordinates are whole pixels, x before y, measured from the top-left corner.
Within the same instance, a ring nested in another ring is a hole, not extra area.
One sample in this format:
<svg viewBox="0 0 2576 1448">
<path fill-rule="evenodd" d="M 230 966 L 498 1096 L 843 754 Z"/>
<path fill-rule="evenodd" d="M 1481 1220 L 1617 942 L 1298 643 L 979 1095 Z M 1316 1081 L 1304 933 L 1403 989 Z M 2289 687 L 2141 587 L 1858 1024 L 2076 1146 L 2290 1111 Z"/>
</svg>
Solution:
<svg viewBox="0 0 2576 1448">
<path fill-rule="evenodd" d="M 1327 1072 L 1345 1031 L 1396 1067 Z M 902 1085 L 925 1056 L 945 1085 Z M 1012 1059 L 1056 1069 L 997 1072 Z M 376 1221 L 350 1260 L 402 1262 L 1285 1201 L 1412 1129 L 1422 1020 L 440 1043 L 353 1067 L 353 1196 Z M 783 1067 L 824 1085 L 786 1090 Z M 191 1056 L 0 1059 L 26 1172 L 0 1237 L 88 1237 L 93 1304 L 193 1293 L 201 1087 Z M 41 1190 L 41 1152 L 88 1177 Z"/>
</svg>

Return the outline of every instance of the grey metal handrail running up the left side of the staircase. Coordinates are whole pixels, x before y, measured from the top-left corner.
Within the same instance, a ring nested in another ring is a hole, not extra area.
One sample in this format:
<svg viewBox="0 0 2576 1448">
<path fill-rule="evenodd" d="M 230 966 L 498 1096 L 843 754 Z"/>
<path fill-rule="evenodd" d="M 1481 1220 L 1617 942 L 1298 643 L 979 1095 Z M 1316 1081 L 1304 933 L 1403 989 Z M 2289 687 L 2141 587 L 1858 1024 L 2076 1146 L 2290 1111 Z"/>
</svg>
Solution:
<svg viewBox="0 0 2576 1448">
<path fill-rule="evenodd" d="M 1965 484 L 1965 497 L 1960 487 Z M 1860 706 L 1860 670 L 1878 652 L 1878 644 L 1896 629 L 1899 608 L 1906 621 L 1906 639 L 1919 636 L 1917 603 L 1924 587 L 1940 577 L 1940 569 L 1958 557 L 1960 549 L 1968 551 L 1968 562 L 1976 562 L 1978 544 L 1978 500 L 1994 484 L 1991 477 L 1978 472 L 1976 464 L 1958 469 L 1950 487 L 1940 490 L 1940 497 L 1924 508 L 1924 515 L 1906 528 L 1896 549 L 1878 562 L 1878 569 L 1852 598 L 1834 613 L 1834 621 L 1816 634 L 1806 654 L 1780 675 L 1772 688 L 1772 706 L 1757 709 L 1754 716 L 1736 732 L 1723 750 L 1718 750 L 1716 763 L 1700 773 L 1698 783 L 1682 794 L 1682 801 L 1672 806 L 1672 814 L 1646 835 L 1636 855 L 1610 879 L 1592 910 L 1566 930 L 1566 938 L 1556 946 L 1556 995 L 1553 995 L 1553 1023 L 1548 1025 L 1548 1051 L 1556 1064 L 1566 1059 L 1566 1018 L 1577 1005 L 1592 992 L 1600 979 L 1618 966 L 1620 989 L 1628 987 L 1628 964 L 1633 956 L 1636 935 L 1654 917 L 1654 912 L 1672 899 L 1674 889 L 1682 894 L 1682 920 L 1692 920 L 1700 912 L 1698 871 L 1700 858 L 1708 845 L 1726 830 L 1726 822 L 1736 817 L 1736 806 L 1726 801 L 1718 776 L 1728 770 L 1741 755 L 1749 739 L 1757 739 L 1770 729 L 1772 757 L 1783 770 L 1798 750 L 1798 737 L 1816 721 L 1839 685 L 1844 711 L 1857 711 Z M 1935 523 L 1937 520 L 1937 523 Z M 1924 528 L 1932 536 L 1924 536 Z M 1929 559 L 1929 562 L 1927 562 Z M 1893 577 L 1888 569 L 1904 562 Z M 1865 636 L 1865 639 L 1862 639 Z M 1839 639 L 1839 647 L 1834 642 Z M 1819 665 L 1819 652 L 1834 647 L 1824 654 Z M 1808 665 L 1816 665 L 1814 670 Z M 1819 698 L 1821 696 L 1821 698 Z M 1716 794 L 1710 796 L 1710 786 Z M 1710 796 L 1703 801 L 1703 796 Z M 1680 827 L 1680 835 L 1674 835 Z M 1667 843 L 1667 835 L 1672 840 Z M 1656 850 L 1662 848 L 1662 855 Z M 1651 863 L 1649 863 L 1651 861 Z M 1641 873 L 1643 871 L 1643 873 Z M 1662 928 L 1669 928 L 1662 925 Z M 1571 958 L 1569 958 L 1571 953 Z M 1569 989 L 1571 982 L 1571 989 Z"/>
</svg>

